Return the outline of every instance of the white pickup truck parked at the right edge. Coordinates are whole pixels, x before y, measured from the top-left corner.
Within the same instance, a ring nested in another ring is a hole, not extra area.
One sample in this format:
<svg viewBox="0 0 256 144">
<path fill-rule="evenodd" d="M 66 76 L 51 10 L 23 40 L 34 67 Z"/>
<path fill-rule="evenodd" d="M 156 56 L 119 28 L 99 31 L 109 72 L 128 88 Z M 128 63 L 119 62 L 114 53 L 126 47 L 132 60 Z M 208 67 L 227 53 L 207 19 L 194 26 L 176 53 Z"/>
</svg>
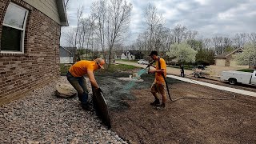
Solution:
<svg viewBox="0 0 256 144">
<path fill-rule="evenodd" d="M 238 82 L 256 85 L 256 70 L 254 70 L 253 73 L 231 70 L 222 71 L 221 80 L 230 82 L 230 85 L 234 85 Z"/>
</svg>

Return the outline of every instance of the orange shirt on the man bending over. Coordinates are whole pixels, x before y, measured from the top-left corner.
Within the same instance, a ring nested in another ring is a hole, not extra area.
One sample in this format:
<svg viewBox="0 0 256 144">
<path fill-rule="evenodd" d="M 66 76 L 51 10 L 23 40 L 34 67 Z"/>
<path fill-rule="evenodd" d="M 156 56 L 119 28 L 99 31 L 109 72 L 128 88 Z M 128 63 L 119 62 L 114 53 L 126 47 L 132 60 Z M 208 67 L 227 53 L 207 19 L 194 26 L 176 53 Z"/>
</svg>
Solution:
<svg viewBox="0 0 256 144">
<path fill-rule="evenodd" d="M 88 70 L 94 71 L 97 68 L 97 63 L 95 61 L 79 61 L 70 67 L 70 74 L 74 77 L 82 77 L 87 74 Z"/>
</svg>

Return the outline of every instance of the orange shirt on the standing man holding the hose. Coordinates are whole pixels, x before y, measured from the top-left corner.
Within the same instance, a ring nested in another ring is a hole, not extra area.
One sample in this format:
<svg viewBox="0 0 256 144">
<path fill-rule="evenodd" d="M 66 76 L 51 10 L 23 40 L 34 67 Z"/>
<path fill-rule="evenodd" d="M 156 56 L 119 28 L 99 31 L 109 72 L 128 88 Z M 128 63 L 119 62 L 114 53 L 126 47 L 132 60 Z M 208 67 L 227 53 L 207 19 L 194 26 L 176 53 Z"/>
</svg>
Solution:
<svg viewBox="0 0 256 144">
<path fill-rule="evenodd" d="M 159 61 L 160 61 L 161 69 L 164 69 L 164 76 L 166 78 L 166 61 L 163 58 L 160 58 Z M 155 63 L 156 63 L 156 70 L 160 70 L 159 69 L 160 67 L 158 66 L 159 62 L 156 61 Z M 161 73 L 158 73 L 158 72 L 155 73 L 155 80 L 159 84 L 165 84 L 165 79 L 162 77 Z"/>
</svg>

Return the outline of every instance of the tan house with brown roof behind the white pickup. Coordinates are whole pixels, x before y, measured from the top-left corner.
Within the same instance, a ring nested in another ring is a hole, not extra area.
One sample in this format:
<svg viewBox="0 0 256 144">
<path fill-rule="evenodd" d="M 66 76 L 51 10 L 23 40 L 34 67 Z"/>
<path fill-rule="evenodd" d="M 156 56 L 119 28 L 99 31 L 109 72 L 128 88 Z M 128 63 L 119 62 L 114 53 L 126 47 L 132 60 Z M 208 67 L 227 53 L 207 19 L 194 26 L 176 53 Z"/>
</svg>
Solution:
<svg viewBox="0 0 256 144">
<path fill-rule="evenodd" d="M 219 54 L 215 56 L 215 65 L 216 66 L 239 66 L 237 62 L 234 60 L 234 54 L 242 53 L 242 48 L 234 50 L 232 52 L 224 52 L 223 54 Z"/>
</svg>

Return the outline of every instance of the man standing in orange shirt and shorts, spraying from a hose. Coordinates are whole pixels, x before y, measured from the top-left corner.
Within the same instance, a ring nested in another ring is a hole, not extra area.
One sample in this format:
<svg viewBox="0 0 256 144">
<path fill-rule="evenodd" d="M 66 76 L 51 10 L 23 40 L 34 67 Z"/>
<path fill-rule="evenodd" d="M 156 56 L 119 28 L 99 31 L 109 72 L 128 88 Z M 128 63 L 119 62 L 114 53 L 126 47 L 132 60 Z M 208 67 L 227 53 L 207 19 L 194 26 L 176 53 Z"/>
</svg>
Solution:
<svg viewBox="0 0 256 144">
<path fill-rule="evenodd" d="M 158 56 L 157 51 L 152 51 L 150 57 L 156 62 L 155 70 L 150 70 L 150 74 L 155 74 L 155 79 L 151 86 L 154 102 L 151 102 L 150 105 L 164 108 L 166 106 L 166 82 L 163 77 L 166 78 L 166 61 Z M 160 105 L 157 93 L 162 95 L 162 105 Z"/>
</svg>

